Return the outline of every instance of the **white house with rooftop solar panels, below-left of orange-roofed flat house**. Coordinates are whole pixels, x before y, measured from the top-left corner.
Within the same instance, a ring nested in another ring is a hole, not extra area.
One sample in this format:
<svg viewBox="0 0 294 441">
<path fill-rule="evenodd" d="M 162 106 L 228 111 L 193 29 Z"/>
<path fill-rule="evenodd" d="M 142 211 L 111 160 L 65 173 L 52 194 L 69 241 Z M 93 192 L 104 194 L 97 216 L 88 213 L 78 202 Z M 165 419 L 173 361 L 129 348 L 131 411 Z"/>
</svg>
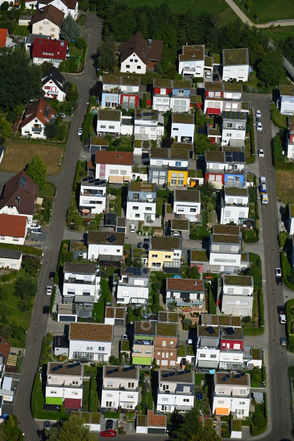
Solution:
<svg viewBox="0 0 294 441">
<path fill-rule="evenodd" d="M 100 214 L 106 207 L 106 180 L 87 177 L 81 179 L 79 210 L 83 214 Z"/>
</svg>

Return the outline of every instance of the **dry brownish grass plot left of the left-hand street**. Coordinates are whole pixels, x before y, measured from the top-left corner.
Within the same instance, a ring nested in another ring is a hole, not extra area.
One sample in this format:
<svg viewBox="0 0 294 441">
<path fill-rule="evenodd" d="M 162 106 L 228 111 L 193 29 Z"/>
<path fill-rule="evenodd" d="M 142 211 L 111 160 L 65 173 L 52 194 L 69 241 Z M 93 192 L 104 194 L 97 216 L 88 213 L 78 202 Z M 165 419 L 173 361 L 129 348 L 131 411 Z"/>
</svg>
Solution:
<svg viewBox="0 0 294 441">
<path fill-rule="evenodd" d="M 58 163 L 64 152 L 65 146 L 11 141 L 0 164 L 0 171 L 18 173 L 34 156 L 39 155 L 47 165 L 47 174 L 56 175 L 60 172 Z"/>
</svg>

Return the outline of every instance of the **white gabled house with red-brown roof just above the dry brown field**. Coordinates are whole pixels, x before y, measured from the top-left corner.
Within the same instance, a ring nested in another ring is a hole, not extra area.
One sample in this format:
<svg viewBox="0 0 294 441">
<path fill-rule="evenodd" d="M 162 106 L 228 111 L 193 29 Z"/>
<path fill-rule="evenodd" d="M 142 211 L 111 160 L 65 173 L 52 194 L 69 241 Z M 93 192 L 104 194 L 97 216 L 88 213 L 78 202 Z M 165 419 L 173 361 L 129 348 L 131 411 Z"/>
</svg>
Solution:
<svg viewBox="0 0 294 441">
<path fill-rule="evenodd" d="M 54 110 L 43 98 L 30 104 L 24 113 L 19 130 L 24 138 L 45 138 L 45 125 L 52 122 L 51 117 L 56 116 Z"/>
</svg>

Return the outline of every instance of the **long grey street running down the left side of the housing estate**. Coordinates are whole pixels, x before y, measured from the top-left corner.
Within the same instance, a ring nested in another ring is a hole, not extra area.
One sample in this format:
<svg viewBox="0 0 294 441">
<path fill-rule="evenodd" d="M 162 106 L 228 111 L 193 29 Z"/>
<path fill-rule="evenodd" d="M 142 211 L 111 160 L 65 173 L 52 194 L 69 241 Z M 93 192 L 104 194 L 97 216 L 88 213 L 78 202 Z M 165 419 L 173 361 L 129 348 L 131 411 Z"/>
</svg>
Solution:
<svg viewBox="0 0 294 441">
<path fill-rule="evenodd" d="M 49 228 L 43 263 L 39 277 L 39 289 L 36 295 L 30 329 L 27 336 L 26 354 L 23 359 L 19 387 L 15 400 L 14 413 L 19 421 L 19 428 L 25 434 L 26 441 L 39 440 L 40 432 L 30 413 L 30 396 L 34 383 L 34 376 L 38 370 L 41 344 L 46 332 L 48 316 L 42 314 L 45 303 L 45 286 L 48 283 L 49 271 L 57 267 L 60 243 L 64 236 L 66 212 L 72 195 L 72 183 L 75 168 L 79 159 L 81 142 L 77 137 L 77 129 L 82 127 L 83 118 L 87 110 L 85 102 L 89 100 L 89 89 L 97 78 L 91 61 L 91 54 L 95 54 L 101 43 L 102 21 L 94 14 L 87 14 L 83 37 L 89 41 L 87 61 L 83 74 L 68 75 L 67 80 L 75 82 L 79 90 L 78 108 L 74 113 L 71 130 L 68 136 L 67 149 L 64 156 L 62 172 L 57 176 L 55 183 L 57 195 L 54 203 L 53 216 Z M 48 300 L 48 299 L 47 299 Z"/>
</svg>

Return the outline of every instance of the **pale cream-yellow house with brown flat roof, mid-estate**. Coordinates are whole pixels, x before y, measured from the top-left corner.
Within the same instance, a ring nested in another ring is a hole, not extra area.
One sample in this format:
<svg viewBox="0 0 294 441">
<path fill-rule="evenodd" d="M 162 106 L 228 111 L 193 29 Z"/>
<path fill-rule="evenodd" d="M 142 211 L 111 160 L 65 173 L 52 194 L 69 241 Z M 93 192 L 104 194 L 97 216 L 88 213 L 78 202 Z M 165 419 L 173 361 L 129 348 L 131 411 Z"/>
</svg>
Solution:
<svg viewBox="0 0 294 441">
<path fill-rule="evenodd" d="M 181 262 L 180 237 L 151 237 L 148 253 L 148 268 L 163 269 L 164 266 L 178 265 Z"/>
</svg>

